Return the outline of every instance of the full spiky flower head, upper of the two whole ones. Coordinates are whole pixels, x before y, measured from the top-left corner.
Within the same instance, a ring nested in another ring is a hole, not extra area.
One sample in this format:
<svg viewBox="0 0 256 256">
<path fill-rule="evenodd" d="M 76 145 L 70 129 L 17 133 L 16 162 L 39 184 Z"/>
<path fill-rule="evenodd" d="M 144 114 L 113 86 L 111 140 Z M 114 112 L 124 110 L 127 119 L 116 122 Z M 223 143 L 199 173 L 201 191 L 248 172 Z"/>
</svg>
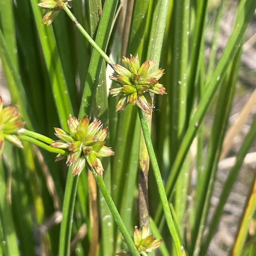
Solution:
<svg viewBox="0 0 256 256">
<path fill-rule="evenodd" d="M 117 103 L 116 111 L 122 110 L 128 103 L 136 104 L 148 114 L 153 110 L 152 98 L 149 92 L 165 94 L 165 88 L 158 80 L 163 76 L 164 69 L 152 72 L 156 65 L 155 60 L 145 61 L 141 66 L 138 54 L 130 58 L 123 57 L 124 67 L 114 64 L 113 68 L 117 75 L 109 76 L 111 80 L 120 84 L 110 88 L 110 94 L 121 96 Z"/>
</svg>

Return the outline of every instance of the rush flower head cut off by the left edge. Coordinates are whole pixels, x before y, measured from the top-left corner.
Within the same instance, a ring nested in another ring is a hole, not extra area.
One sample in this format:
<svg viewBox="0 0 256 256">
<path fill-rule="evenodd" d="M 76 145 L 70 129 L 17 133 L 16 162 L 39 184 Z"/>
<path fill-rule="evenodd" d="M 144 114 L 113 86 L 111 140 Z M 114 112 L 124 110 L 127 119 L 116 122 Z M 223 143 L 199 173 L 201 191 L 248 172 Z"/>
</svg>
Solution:
<svg viewBox="0 0 256 256">
<path fill-rule="evenodd" d="M 18 108 L 18 105 L 4 108 L 4 101 L 0 96 L 0 158 L 4 153 L 4 140 L 9 140 L 23 148 L 21 141 L 15 135 L 25 124 L 20 120 L 20 113 L 17 113 Z"/>
</svg>

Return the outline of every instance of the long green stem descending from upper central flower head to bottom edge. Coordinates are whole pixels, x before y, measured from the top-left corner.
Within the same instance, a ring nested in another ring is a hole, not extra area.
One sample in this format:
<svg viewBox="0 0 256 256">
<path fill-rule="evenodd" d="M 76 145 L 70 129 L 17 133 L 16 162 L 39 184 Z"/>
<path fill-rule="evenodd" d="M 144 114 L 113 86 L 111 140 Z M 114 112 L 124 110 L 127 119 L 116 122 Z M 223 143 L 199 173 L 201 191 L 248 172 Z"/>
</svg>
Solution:
<svg viewBox="0 0 256 256">
<path fill-rule="evenodd" d="M 156 155 L 155 155 L 154 148 L 153 148 L 153 145 L 151 142 L 150 133 L 148 131 L 148 124 L 146 121 L 146 117 L 145 117 L 144 112 L 139 107 L 138 107 L 138 113 L 139 113 L 139 117 L 140 117 L 140 124 L 141 124 L 141 128 L 143 131 L 144 139 L 145 139 L 145 142 L 146 142 L 146 145 L 148 148 L 148 155 L 149 155 L 150 162 L 152 164 L 154 175 L 156 178 L 158 192 L 159 192 L 162 204 L 163 204 L 163 209 L 164 209 L 164 214 L 165 214 L 165 218 L 167 221 L 167 225 L 171 232 L 172 239 L 175 244 L 176 251 L 177 251 L 177 255 L 182 256 L 179 235 L 175 229 L 174 222 L 172 219 L 171 210 L 170 210 L 169 203 L 168 203 L 165 189 L 164 189 L 164 183 L 163 183 L 161 173 L 160 173 L 157 161 L 156 161 Z"/>
</svg>

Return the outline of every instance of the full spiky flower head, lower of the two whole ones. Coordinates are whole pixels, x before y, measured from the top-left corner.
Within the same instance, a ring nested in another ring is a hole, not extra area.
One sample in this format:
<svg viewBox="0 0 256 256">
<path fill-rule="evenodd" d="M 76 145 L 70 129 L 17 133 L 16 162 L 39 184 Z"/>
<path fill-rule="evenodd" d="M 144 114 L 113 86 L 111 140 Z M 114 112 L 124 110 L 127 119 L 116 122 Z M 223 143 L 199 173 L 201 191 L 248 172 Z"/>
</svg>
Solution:
<svg viewBox="0 0 256 256">
<path fill-rule="evenodd" d="M 102 129 L 102 126 L 102 123 L 97 119 L 89 124 L 87 116 L 80 120 L 70 115 L 68 132 L 54 128 L 55 135 L 60 140 L 54 141 L 51 147 L 69 151 L 67 164 L 73 166 L 74 175 L 79 175 L 87 162 L 92 169 L 102 176 L 103 167 L 98 157 L 114 154 L 111 148 L 104 146 L 108 128 Z M 59 154 L 56 161 L 63 157 Z"/>
</svg>

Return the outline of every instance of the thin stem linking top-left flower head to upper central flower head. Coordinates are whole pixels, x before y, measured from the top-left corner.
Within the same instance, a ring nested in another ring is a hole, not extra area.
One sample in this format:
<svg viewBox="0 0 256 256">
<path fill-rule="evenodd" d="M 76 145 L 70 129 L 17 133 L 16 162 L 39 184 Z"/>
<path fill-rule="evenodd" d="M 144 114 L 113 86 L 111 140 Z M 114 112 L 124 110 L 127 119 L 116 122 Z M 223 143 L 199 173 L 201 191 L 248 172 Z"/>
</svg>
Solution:
<svg viewBox="0 0 256 256">
<path fill-rule="evenodd" d="M 85 31 L 85 29 L 82 27 L 82 25 L 76 20 L 76 17 L 73 15 L 73 13 L 68 9 L 68 6 L 64 3 L 64 10 L 67 12 L 69 18 L 75 23 L 76 27 L 79 29 L 79 31 L 83 34 L 83 36 L 88 40 L 88 42 L 92 45 L 93 48 L 97 52 L 99 52 L 100 56 L 104 60 L 107 61 L 107 63 L 113 68 L 114 62 L 108 57 L 108 55 L 98 46 L 98 44 L 95 43 L 95 41 L 92 39 L 92 37 Z"/>
</svg>

